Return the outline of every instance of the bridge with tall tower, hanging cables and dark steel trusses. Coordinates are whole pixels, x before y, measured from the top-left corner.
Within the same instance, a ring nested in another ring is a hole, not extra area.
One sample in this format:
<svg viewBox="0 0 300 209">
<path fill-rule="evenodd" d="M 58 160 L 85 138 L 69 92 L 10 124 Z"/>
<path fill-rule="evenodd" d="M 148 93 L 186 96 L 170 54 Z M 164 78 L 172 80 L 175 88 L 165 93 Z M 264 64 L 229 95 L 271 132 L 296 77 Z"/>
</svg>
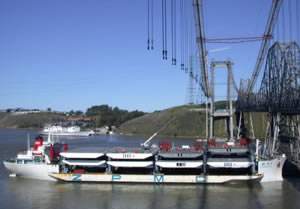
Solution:
<svg viewBox="0 0 300 209">
<path fill-rule="evenodd" d="M 148 0 L 147 48 L 149 50 L 153 49 L 153 1 Z M 206 105 L 207 108 L 210 106 L 210 133 L 207 130 L 207 137 L 214 137 L 214 120 L 222 117 L 228 121 L 228 140 L 238 139 L 243 128 L 243 113 L 249 113 L 251 118 L 253 112 L 265 112 L 268 118 L 263 139 L 263 156 L 268 158 L 283 151 L 290 162 L 300 168 L 300 48 L 298 45 L 300 2 L 298 0 L 270 0 L 270 2 L 271 8 L 268 19 L 265 20 L 265 30 L 261 31 L 262 35 L 207 38 L 204 27 L 206 21 L 203 11 L 204 0 L 180 0 L 179 3 L 176 0 L 170 2 L 161 0 L 162 55 L 164 60 L 168 59 L 167 43 L 170 42 L 172 65 L 179 65 L 180 69 L 189 76 L 187 103 L 195 102 L 195 89 L 208 101 Z M 193 18 L 189 17 L 190 14 L 193 14 Z M 168 25 L 171 26 L 170 31 Z M 169 33 L 171 40 L 167 35 Z M 177 38 L 180 39 L 178 47 Z M 230 59 L 212 60 L 209 76 L 206 48 L 208 44 L 249 42 L 260 42 L 256 64 L 250 78 L 241 80 L 240 85 L 237 86 Z M 180 51 L 178 60 L 177 51 Z M 218 76 L 214 71 L 218 66 L 228 69 L 226 95 L 228 106 L 221 113 L 214 107 L 214 78 Z M 233 136 L 232 117 L 235 114 L 232 107 L 233 92 L 237 94 L 235 111 L 239 115 L 237 136 Z M 255 133 L 252 132 L 254 138 Z"/>
</svg>

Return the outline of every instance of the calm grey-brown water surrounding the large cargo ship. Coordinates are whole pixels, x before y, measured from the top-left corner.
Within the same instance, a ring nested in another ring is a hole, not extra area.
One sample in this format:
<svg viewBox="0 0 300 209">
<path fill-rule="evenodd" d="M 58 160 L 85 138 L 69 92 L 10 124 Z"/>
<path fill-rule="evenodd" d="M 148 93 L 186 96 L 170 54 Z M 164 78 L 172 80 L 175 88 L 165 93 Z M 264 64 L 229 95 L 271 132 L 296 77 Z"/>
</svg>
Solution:
<svg viewBox="0 0 300 209">
<path fill-rule="evenodd" d="M 29 131 L 32 138 L 36 131 Z M 1 162 L 26 147 L 27 131 L 0 130 Z M 69 147 L 136 146 L 145 138 L 93 136 L 65 139 Z M 33 140 L 31 140 L 33 142 Z M 181 140 L 174 140 L 175 145 Z M 184 144 L 192 144 L 185 141 Z M 57 183 L 9 178 L 0 165 L 0 208 L 243 209 L 300 208 L 300 179 L 236 185 Z"/>
</svg>

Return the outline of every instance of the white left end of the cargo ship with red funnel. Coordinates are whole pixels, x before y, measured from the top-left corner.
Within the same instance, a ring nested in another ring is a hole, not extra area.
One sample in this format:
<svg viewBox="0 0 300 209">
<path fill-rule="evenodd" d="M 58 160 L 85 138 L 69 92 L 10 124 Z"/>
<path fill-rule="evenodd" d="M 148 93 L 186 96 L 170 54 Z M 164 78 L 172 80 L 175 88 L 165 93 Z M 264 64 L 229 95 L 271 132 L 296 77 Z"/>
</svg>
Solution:
<svg viewBox="0 0 300 209">
<path fill-rule="evenodd" d="M 50 136 L 47 141 L 41 136 L 37 137 L 33 147 L 29 146 L 28 138 L 27 150 L 13 159 L 5 160 L 3 164 L 11 172 L 10 176 L 53 181 L 49 173 L 59 172 L 61 150 L 67 151 L 67 145 L 52 142 Z"/>
</svg>

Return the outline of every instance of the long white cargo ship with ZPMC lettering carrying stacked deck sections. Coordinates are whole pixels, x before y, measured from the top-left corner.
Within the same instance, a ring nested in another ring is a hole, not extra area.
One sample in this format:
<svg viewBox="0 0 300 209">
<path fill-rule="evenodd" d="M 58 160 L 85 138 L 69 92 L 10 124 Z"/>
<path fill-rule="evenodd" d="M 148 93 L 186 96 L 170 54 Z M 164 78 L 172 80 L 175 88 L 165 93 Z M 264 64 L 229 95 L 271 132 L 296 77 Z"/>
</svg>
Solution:
<svg viewBox="0 0 300 209">
<path fill-rule="evenodd" d="M 68 150 L 66 144 L 36 138 L 33 148 L 4 161 L 14 176 L 66 182 L 235 183 L 282 181 L 285 155 L 262 159 L 249 140 L 171 142 L 137 148 Z"/>
</svg>

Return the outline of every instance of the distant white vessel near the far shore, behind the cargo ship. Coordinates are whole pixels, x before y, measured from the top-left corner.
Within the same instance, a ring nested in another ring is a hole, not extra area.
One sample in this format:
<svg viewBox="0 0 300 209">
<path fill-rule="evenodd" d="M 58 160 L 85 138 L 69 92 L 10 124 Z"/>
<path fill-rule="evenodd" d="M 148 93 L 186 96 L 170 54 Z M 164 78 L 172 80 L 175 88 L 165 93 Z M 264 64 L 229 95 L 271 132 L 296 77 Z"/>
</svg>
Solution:
<svg viewBox="0 0 300 209">
<path fill-rule="evenodd" d="M 81 131 L 79 126 L 68 126 L 63 127 L 60 125 L 49 125 L 46 126 L 41 134 L 48 135 L 48 133 L 51 132 L 51 135 L 53 136 L 91 136 L 95 134 L 94 131 Z"/>
</svg>

